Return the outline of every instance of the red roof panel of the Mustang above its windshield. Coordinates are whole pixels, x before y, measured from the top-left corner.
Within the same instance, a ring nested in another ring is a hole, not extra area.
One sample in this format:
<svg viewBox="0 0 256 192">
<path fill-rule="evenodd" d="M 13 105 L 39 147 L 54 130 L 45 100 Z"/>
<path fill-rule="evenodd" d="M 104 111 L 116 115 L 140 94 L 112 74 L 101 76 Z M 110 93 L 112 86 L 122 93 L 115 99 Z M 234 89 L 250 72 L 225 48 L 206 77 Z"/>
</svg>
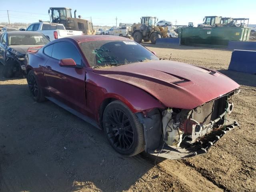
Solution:
<svg viewBox="0 0 256 192">
<path fill-rule="evenodd" d="M 88 41 L 98 41 L 98 40 L 125 40 L 132 41 L 125 37 L 114 36 L 114 35 L 75 35 L 66 38 L 74 39 L 76 42 L 88 42 Z"/>
</svg>

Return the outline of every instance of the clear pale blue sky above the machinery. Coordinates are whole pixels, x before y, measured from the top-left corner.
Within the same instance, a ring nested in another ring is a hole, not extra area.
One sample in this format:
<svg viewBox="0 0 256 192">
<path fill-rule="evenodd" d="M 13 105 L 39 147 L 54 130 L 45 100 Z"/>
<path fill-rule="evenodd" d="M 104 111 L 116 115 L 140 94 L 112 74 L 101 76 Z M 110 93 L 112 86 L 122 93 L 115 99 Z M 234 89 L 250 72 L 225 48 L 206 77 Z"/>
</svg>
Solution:
<svg viewBox="0 0 256 192">
<path fill-rule="evenodd" d="M 204 16 L 250 18 L 249 24 L 256 24 L 256 0 L 1 0 L 0 22 L 8 22 L 5 10 L 10 10 L 11 23 L 49 20 L 49 7 L 72 8 L 72 16 L 77 10 L 77 16 L 92 17 L 95 25 L 114 26 L 116 17 L 118 24 L 140 22 L 141 16 L 156 16 L 173 24 L 177 20 L 177 25 L 194 22 L 196 26 Z"/>
</svg>

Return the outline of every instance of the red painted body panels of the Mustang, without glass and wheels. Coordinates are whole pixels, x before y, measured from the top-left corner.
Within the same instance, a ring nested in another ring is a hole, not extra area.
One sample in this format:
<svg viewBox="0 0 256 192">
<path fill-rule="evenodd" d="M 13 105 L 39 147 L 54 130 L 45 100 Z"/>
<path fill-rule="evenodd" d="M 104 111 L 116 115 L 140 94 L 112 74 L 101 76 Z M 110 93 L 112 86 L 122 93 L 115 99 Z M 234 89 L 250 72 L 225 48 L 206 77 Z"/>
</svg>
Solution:
<svg viewBox="0 0 256 192">
<path fill-rule="evenodd" d="M 82 56 L 82 68 L 62 67 L 43 53 L 29 53 L 26 70 L 34 70 L 45 96 L 100 122 L 100 107 L 110 98 L 124 102 L 132 112 L 152 108 L 192 109 L 239 87 L 214 70 L 174 61 L 149 61 L 106 69 L 90 68 L 79 43 L 126 40 L 118 36 L 70 36 L 54 40 L 71 42 Z M 49 45 L 48 44 L 48 45 Z M 175 83 L 180 82 L 180 83 Z"/>
</svg>

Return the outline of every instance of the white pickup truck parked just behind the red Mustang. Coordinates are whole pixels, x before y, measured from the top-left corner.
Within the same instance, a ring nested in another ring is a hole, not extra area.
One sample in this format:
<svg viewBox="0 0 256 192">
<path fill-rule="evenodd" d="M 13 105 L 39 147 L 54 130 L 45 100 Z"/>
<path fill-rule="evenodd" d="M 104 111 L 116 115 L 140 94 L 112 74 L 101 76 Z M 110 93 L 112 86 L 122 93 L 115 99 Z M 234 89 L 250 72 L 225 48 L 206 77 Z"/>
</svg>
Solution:
<svg viewBox="0 0 256 192">
<path fill-rule="evenodd" d="M 63 24 L 37 22 L 32 23 L 26 31 L 37 31 L 44 34 L 50 41 L 72 35 L 82 35 L 82 31 L 66 30 Z"/>
</svg>

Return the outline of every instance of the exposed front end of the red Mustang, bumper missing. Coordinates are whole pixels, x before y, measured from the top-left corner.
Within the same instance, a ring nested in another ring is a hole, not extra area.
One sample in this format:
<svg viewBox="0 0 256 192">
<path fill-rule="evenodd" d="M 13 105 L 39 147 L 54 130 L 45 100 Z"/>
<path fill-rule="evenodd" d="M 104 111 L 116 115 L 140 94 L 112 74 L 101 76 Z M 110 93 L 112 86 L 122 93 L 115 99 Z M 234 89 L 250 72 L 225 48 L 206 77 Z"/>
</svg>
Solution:
<svg viewBox="0 0 256 192">
<path fill-rule="evenodd" d="M 138 113 L 144 127 L 145 151 L 168 159 L 188 158 L 208 152 L 226 132 L 238 126 L 227 117 L 232 112 L 234 90 L 192 110 L 154 109 Z"/>
</svg>

